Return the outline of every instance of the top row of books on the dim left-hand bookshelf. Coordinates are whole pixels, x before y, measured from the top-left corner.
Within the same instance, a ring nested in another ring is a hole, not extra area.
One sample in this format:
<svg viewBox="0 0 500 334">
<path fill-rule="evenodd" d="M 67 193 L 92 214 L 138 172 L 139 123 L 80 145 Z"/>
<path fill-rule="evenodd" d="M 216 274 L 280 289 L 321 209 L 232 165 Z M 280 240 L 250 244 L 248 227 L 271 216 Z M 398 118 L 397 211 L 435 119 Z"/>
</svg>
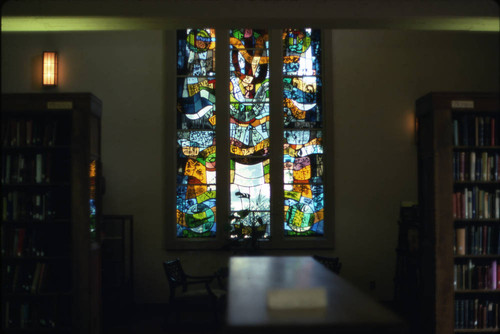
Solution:
<svg viewBox="0 0 500 334">
<path fill-rule="evenodd" d="M 2 122 L 2 146 L 54 146 L 64 130 L 58 119 L 11 119 Z"/>
</svg>

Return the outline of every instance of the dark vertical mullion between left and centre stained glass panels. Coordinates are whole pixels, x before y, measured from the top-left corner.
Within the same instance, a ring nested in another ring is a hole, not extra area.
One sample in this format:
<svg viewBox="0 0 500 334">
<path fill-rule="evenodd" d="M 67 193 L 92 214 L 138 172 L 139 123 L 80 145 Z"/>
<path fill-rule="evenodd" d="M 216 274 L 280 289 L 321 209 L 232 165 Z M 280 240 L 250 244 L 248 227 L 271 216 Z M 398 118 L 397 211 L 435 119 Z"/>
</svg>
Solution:
<svg viewBox="0 0 500 334">
<path fill-rule="evenodd" d="M 216 46 L 216 175 L 217 238 L 227 237 L 229 223 L 229 30 L 217 29 Z"/>
</svg>

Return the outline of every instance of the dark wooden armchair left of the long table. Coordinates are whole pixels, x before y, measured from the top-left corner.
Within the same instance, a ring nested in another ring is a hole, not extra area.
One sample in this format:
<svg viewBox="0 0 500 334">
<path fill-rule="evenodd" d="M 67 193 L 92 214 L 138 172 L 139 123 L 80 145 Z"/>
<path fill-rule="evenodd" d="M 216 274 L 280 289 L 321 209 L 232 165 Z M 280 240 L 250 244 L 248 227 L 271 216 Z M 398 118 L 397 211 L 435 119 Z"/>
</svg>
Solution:
<svg viewBox="0 0 500 334">
<path fill-rule="evenodd" d="M 218 325 L 220 321 L 220 311 L 223 307 L 225 291 L 213 289 L 211 283 L 217 276 L 192 276 L 184 272 L 179 259 L 163 262 L 163 268 L 167 276 L 170 298 L 167 312 L 166 326 L 187 326 L 206 325 L 200 324 L 201 314 L 213 316 L 213 324 Z M 175 315 L 175 322 L 172 324 L 169 318 Z M 181 317 L 188 318 L 182 323 Z"/>
</svg>

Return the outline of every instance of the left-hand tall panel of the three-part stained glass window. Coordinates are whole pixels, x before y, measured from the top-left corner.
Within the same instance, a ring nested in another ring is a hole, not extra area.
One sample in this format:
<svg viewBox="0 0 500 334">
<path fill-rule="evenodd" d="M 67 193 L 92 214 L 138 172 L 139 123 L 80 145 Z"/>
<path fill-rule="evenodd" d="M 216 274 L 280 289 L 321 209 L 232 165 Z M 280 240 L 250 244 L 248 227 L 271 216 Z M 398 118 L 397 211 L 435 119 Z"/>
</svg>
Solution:
<svg viewBox="0 0 500 334">
<path fill-rule="evenodd" d="M 177 237 L 214 237 L 215 31 L 177 32 Z"/>
</svg>

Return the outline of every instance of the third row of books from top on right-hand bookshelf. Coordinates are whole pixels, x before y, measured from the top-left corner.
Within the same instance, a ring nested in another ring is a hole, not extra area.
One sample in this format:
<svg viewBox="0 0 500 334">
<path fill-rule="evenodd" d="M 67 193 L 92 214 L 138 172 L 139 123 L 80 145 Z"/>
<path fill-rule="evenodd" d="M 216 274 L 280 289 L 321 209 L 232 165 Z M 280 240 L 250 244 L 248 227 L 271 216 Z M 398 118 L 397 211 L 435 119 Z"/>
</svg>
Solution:
<svg viewBox="0 0 500 334">
<path fill-rule="evenodd" d="M 466 187 L 453 193 L 453 218 L 500 219 L 500 189 Z"/>
</svg>

